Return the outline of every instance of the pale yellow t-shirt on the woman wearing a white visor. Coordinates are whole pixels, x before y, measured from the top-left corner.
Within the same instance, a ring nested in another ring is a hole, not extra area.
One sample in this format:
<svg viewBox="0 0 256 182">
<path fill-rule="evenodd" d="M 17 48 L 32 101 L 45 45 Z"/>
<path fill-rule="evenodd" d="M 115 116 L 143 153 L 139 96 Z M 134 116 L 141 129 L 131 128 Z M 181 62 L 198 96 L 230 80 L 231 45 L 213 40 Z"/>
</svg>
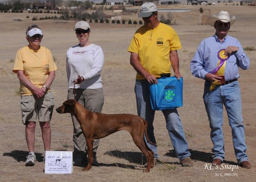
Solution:
<svg viewBox="0 0 256 182">
<path fill-rule="evenodd" d="M 29 46 L 20 48 L 17 51 L 15 62 L 12 71 L 23 70 L 24 75 L 38 88 L 42 88 L 48 78 L 50 71 L 56 71 L 52 57 L 52 53 L 49 49 L 40 46 L 38 50 L 33 50 Z M 26 86 L 20 81 L 20 95 L 32 95 Z"/>
</svg>

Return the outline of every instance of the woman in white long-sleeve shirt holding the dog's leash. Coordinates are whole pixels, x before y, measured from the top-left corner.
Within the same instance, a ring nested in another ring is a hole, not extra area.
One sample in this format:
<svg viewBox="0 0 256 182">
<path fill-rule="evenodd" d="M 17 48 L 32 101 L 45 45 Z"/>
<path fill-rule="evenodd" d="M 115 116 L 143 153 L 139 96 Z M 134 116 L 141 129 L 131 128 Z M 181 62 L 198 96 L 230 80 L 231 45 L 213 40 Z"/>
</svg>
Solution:
<svg viewBox="0 0 256 182">
<path fill-rule="evenodd" d="M 75 84 L 75 99 L 84 108 L 93 112 L 101 112 L 104 103 L 102 78 L 100 71 L 104 63 L 102 48 L 90 43 L 90 25 L 85 21 L 79 21 L 75 26 L 76 37 L 79 44 L 67 50 L 66 69 L 68 80 L 68 99 L 74 99 L 73 89 Z M 78 80 L 80 76 L 80 80 Z M 75 82 L 73 82 L 75 81 Z M 80 83 L 80 84 L 78 84 Z M 82 165 L 87 155 L 87 147 L 84 135 L 76 117 L 71 114 L 74 133 L 74 165 Z M 93 142 L 93 165 L 98 165 L 96 151 L 99 139 Z"/>
</svg>

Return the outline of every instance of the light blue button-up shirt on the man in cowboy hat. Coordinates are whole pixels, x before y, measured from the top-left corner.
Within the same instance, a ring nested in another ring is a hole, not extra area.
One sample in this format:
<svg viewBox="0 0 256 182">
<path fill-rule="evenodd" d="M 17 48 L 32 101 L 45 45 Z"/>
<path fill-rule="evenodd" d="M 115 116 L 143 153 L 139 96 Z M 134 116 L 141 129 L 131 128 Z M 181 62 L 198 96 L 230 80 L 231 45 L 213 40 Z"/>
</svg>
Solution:
<svg viewBox="0 0 256 182">
<path fill-rule="evenodd" d="M 244 49 L 239 41 L 231 36 L 226 36 L 221 42 L 216 34 L 204 39 L 195 52 L 190 63 L 191 73 L 198 78 L 204 79 L 207 73 L 210 73 L 218 64 L 218 51 L 228 46 L 237 46 L 239 50 L 232 53 L 224 71 L 225 81 L 236 79 L 239 76 L 238 67 L 246 70 L 250 66 L 250 59 L 244 53 Z"/>
</svg>

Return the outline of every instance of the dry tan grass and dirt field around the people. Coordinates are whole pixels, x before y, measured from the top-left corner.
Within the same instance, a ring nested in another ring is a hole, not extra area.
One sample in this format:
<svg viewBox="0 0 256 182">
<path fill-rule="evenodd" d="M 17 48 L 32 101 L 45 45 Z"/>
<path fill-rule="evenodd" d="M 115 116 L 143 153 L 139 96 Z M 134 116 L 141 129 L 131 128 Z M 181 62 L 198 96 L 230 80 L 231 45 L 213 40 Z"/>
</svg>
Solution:
<svg viewBox="0 0 256 182">
<path fill-rule="evenodd" d="M 253 6 L 203 6 L 204 13 L 199 13 L 200 6 L 172 6 L 171 8 L 191 9 L 190 12 L 173 13 L 177 31 L 183 48 L 178 51 L 180 73 L 183 75 L 183 107 L 178 112 L 189 143 L 192 168 L 183 168 L 175 156 L 163 114 L 156 112 L 154 120 L 155 136 L 158 144 L 160 161 L 150 173 L 143 173 L 145 158 L 136 147 L 130 134 L 119 131 L 101 139 L 97 159 L 99 167 L 90 171 L 81 171 L 74 166 L 72 174 L 45 174 L 42 162 L 44 146 L 40 127 L 36 128 L 35 152 L 38 159 L 35 166 L 25 167 L 27 145 L 25 127 L 21 122 L 20 97 L 17 94 L 19 81 L 12 73 L 13 60 L 17 50 L 25 45 L 27 26 L 38 24 L 44 32 L 41 43 L 52 51 L 58 67 L 55 80 L 51 86 L 55 97 L 55 108 L 67 98 L 67 76 L 65 71 L 65 54 L 70 46 L 78 43 L 73 31 L 75 21 L 37 20 L 32 21 L 32 14 L 0 13 L 0 181 L 255 181 L 256 179 L 256 97 L 255 72 L 256 51 L 246 51 L 250 57 L 250 69 L 240 69 L 243 118 L 247 144 L 247 154 L 252 164 L 251 169 L 239 167 L 233 171 L 230 166 L 237 165 L 233 150 L 231 130 L 227 114 L 224 111 L 224 140 L 226 169 L 207 170 L 205 165 L 212 161 L 212 142 L 209 137 L 209 122 L 202 100 L 204 81 L 192 76 L 189 70 L 190 60 L 198 44 L 214 34 L 214 28 L 207 25 L 198 26 L 199 20 L 205 21 L 209 13 L 229 11 L 236 16 L 236 23 L 229 34 L 236 37 L 243 47 L 253 46 L 255 41 L 255 11 Z M 26 16 L 30 18 L 27 19 Z M 37 14 L 40 17 L 40 15 Z M 43 14 L 42 17 L 45 15 Z M 19 18 L 22 21 L 14 21 Z M 132 17 L 134 20 L 140 20 Z M 136 72 L 129 63 L 127 48 L 139 25 L 122 25 L 112 23 L 91 23 L 90 41 L 101 46 L 105 54 L 102 70 L 105 103 L 102 113 L 137 114 L 134 94 Z M 54 111 L 52 121 L 52 151 L 73 150 L 73 125 L 69 114 Z M 230 176 L 231 175 L 231 176 Z"/>
</svg>

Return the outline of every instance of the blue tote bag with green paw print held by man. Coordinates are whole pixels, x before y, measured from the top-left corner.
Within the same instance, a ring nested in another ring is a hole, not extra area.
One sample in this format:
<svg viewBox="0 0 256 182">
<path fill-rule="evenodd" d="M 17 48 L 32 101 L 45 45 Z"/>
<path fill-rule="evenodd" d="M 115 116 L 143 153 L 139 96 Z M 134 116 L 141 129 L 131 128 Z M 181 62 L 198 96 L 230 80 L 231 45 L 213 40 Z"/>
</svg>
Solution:
<svg viewBox="0 0 256 182">
<path fill-rule="evenodd" d="M 150 84 L 150 101 L 153 110 L 169 110 L 183 105 L 183 78 L 157 79 L 158 84 Z"/>
</svg>

